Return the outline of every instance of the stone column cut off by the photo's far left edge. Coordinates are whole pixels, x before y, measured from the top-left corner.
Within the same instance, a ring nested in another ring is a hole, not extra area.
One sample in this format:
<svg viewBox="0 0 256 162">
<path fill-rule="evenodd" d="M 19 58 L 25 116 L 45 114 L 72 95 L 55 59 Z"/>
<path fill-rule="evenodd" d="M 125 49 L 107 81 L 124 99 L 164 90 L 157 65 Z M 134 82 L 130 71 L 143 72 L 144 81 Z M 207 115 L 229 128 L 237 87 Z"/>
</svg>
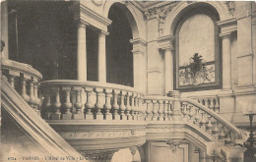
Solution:
<svg viewBox="0 0 256 162">
<path fill-rule="evenodd" d="M 1 58 L 8 59 L 8 7 L 7 0 L 1 2 L 1 40 L 4 41 L 4 48 L 1 51 Z M 1 49 L 2 50 L 2 49 Z"/>
</svg>

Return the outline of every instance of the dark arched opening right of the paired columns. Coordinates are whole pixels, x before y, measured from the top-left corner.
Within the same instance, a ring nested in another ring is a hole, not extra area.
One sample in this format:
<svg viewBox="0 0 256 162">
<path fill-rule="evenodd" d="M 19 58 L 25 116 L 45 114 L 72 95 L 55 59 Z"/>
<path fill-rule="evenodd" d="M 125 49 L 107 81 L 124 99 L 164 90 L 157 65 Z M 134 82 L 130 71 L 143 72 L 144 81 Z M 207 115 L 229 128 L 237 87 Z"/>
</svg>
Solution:
<svg viewBox="0 0 256 162">
<path fill-rule="evenodd" d="M 132 28 L 119 5 L 113 4 L 108 13 L 112 24 L 106 37 L 106 81 L 133 86 Z"/>
</svg>

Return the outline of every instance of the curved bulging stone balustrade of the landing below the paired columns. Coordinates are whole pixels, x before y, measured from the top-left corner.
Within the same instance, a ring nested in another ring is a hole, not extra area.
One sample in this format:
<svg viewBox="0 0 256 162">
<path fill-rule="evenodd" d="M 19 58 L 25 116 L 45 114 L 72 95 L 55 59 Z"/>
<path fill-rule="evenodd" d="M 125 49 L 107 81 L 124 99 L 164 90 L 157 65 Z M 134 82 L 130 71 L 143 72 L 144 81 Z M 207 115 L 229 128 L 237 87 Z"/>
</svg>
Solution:
<svg viewBox="0 0 256 162">
<path fill-rule="evenodd" d="M 96 81 L 43 81 L 46 120 L 143 120 L 143 94 L 133 87 Z"/>
</svg>

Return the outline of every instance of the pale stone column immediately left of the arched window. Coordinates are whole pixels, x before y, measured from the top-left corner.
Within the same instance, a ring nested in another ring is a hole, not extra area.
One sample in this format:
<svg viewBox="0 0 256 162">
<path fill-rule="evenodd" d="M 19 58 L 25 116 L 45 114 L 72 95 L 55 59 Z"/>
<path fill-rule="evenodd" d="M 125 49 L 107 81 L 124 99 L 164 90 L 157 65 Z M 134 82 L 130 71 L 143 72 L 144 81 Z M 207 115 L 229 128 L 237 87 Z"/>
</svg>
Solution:
<svg viewBox="0 0 256 162">
<path fill-rule="evenodd" d="M 172 48 L 164 49 L 165 94 L 173 90 L 173 53 Z"/>
</svg>

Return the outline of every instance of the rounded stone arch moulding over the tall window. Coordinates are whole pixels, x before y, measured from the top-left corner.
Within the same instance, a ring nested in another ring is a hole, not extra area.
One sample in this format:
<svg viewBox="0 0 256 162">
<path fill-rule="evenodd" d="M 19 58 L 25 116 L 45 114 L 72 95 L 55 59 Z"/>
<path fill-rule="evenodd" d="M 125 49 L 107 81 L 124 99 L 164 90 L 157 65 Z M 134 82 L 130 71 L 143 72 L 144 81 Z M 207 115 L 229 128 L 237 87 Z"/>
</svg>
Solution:
<svg viewBox="0 0 256 162">
<path fill-rule="evenodd" d="M 177 27 L 179 21 L 184 16 L 184 13 L 190 8 L 195 8 L 199 5 L 207 4 L 213 7 L 217 13 L 219 14 L 220 21 L 224 21 L 229 19 L 230 16 L 227 14 L 226 7 L 222 2 L 214 2 L 214 1 L 205 1 L 205 2 L 194 2 L 189 4 L 187 2 L 180 2 L 173 10 L 169 13 L 169 15 L 165 19 L 164 23 L 164 35 L 174 35 L 175 27 Z"/>
</svg>

